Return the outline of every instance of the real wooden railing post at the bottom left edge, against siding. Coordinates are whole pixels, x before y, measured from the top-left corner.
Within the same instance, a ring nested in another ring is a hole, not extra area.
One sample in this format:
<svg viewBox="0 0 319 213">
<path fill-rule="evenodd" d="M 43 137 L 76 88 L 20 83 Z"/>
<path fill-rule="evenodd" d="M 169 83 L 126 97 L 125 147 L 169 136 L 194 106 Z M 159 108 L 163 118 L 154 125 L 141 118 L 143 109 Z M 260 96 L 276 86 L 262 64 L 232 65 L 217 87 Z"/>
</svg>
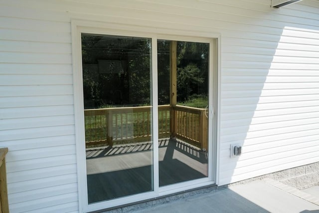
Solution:
<svg viewBox="0 0 319 213">
<path fill-rule="evenodd" d="M 9 213 L 5 170 L 5 155 L 7 152 L 8 148 L 0 149 L 0 213 Z"/>
</svg>

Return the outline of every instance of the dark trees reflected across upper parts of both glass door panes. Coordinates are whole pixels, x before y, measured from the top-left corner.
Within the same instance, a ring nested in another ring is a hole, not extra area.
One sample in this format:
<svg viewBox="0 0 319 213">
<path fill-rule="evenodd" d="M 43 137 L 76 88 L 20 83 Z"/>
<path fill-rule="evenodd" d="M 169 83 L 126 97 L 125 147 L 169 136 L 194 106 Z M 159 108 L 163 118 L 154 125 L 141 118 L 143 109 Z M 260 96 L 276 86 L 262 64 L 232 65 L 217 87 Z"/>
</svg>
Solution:
<svg viewBox="0 0 319 213">
<path fill-rule="evenodd" d="M 159 105 L 169 104 L 170 43 L 158 40 Z M 151 52 L 148 38 L 82 34 L 85 109 L 151 105 Z M 207 43 L 177 41 L 177 102 L 208 95 L 208 56 Z"/>
</svg>

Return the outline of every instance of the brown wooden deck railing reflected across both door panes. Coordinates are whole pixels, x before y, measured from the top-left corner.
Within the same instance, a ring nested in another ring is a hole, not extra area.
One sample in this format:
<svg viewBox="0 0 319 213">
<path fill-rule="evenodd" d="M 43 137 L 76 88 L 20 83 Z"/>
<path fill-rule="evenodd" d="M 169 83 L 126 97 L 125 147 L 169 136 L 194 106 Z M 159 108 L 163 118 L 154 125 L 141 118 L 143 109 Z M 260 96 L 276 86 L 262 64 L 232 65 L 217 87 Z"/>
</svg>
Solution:
<svg viewBox="0 0 319 213">
<path fill-rule="evenodd" d="M 204 113 L 205 110 L 200 108 L 159 106 L 159 137 L 173 136 L 207 149 L 207 118 Z M 84 110 L 84 116 L 87 146 L 151 140 L 151 106 L 88 109 Z M 175 118 L 173 128 L 170 117 Z"/>
</svg>

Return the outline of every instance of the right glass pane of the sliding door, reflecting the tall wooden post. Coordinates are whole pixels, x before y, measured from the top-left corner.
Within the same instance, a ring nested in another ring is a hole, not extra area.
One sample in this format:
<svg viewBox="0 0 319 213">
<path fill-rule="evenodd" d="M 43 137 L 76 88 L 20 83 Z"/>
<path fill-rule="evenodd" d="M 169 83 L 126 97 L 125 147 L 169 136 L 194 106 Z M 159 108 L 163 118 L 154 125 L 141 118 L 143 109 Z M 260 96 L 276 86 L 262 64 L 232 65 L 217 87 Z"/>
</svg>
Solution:
<svg viewBox="0 0 319 213">
<path fill-rule="evenodd" d="M 208 177 L 209 43 L 158 40 L 160 186 Z"/>
</svg>

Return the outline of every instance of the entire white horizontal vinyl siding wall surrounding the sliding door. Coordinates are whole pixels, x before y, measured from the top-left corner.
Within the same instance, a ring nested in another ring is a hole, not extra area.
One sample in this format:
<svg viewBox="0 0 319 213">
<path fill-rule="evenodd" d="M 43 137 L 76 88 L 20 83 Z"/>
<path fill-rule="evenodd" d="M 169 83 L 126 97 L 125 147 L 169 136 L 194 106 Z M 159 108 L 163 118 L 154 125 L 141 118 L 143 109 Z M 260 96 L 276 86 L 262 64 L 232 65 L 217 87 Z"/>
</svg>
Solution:
<svg viewBox="0 0 319 213">
<path fill-rule="evenodd" d="M 220 33 L 219 158 L 224 185 L 319 161 L 319 1 L 7 0 L 0 3 L 0 147 L 9 205 L 78 211 L 71 19 Z M 229 158 L 230 144 L 243 145 Z"/>
</svg>

